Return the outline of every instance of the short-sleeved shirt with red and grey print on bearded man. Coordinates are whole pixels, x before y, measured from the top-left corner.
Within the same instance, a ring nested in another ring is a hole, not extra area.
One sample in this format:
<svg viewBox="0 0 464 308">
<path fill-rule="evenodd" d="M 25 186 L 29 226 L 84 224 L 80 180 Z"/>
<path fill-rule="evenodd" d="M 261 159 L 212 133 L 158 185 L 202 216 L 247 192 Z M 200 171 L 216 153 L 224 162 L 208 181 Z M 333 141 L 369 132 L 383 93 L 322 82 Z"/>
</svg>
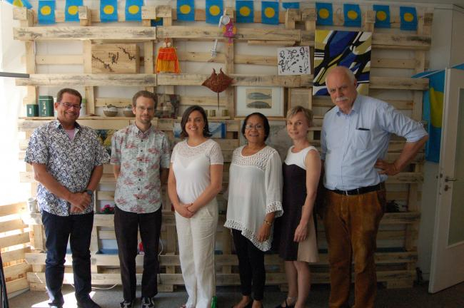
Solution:
<svg viewBox="0 0 464 308">
<path fill-rule="evenodd" d="M 111 140 L 111 164 L 120 165 L 114 201 L 126 212 L 150 213 L 161 207 L 160 167 L 169 168 L 166 135 L 151 125 L 145 133 L 135 124 L 118 130 Z"/>
</svg>

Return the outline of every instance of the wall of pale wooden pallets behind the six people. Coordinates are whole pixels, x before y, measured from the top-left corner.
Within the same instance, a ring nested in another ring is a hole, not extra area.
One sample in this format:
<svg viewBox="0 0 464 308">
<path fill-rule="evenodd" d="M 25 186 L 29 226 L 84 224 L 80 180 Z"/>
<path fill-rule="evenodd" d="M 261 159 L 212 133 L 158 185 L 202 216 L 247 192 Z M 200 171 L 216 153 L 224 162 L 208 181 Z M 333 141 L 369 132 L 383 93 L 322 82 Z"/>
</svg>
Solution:
<svg viewBox="0 0 464 308">
<path fill-rule="evenodd" d="M 228 14 L 233 16 L 233 8 L 227 8 Z M 15 9 L 14 18 L 20 21 L 20 26 L 14 29 L 14 38 L 26 43 L 26 72 L 29 78 L 20 78 L 16 81 L 17 86 L 26 86 L 27 96 L 25 103 L 36 100 L 39 89 L 51 86 L 71 86 L 84 88 L 84 96 L 87 100 L 86 112 L 101 113 L 101 107 L 112 104 L 117 107 L 127 106 L 131 103 L 129 98 L 99 96 L 99 88 L 106 86 L 128 87 L 128 91 L 135 93 L 136 89 L 145 88 L 149 91 L 159 93 L 180 93 L 179 89 L 196 87 L 208 78 L 211 71 L 186 71 L 180 74 L 155 74 L 154 59 L 156 58 L 156 43 L 166 38 L 176 43 L 188 43 L 190 41 L 202 41 L 205 43 L 204 51 L 180 51 L 178 57 L 182 63 L 213 63 L 220 65 L 223 71 L 235 79 L 231 88 L 221 95 L 221 109 L 228 109 L 229 116 L 217 115 L 211 118 L 213 121 L 226 123 L 226 138 L 217 139 L 223 150 L 225 158 L 224 165 L 224 187 L 228 182 L 228 165 L 231 160 L 231 152 L 240 144 L 240 120 L 235 117 L 235 86 L 282 86 L 286 88 L 286 107 L 297 104 L 313 108 L 315 111 L 315 123 L 311 129 L 310 138 L 314 145 L 319 145 L 321 124 L 323 114 L 333 106 L 330 98 L 312 96 L 313 75 L 308 76 L 278 76 L 271 75 L 246 75 L 236 73 L 238 66 L 261 66 L 276 67 L 277 57 L 268 55 L 256 55 L 237 53 L 238 45 L 262 46 L 262 48 L 276 48 L 278 46 L 311 46 L 313 54 L 314 34 L 316 29 L 316 10 L 305 8 L 301 10 L 290 9 L 280 12 L 279 20 L 281 26 L 253 27 L 253 24 L 236 24 L 238 33 L 234 42 L 218 53 L 216 58 L 211 58 L 208 51 L 214 39 L 219 38 L 220 43 L 224 41 L 222 31 L 216 26 L 191 26 L 176 25 L 176 10 L 171 6 L 143 6 L 143 21 L 134 26 L 124 24 L 99 24 L 99 11 L 86 6 L 79 7 L 80 24 L 60 24 L 64 21 L 63 12 L 56 11 L 56 26 L 36 25 L 34 11 L 26 9 Z M 150 20 L 156 17 L 163 18 L 163 26 L 151 27 Z M 400 31 L 398 29 L 398 16 L 392 16 L 392 29 L 378 31 L 374 29 L 375 12 L 363 11 L 364 31 L 373 31 L 373 51 L 371 57 L 371 68 L 378 73 L 370 74 L 370 96 L 382 98 L 391 103 L 395 108 L 407 113 L 415 120 L 420 120 L 422 111 L 422 91 L 428 88 L 425 79 L 409 78 L 414 72 L 423 71 L 427 62 L 425 53 L 430 48 L 430 26 L 432 14 L 423 9 L 418 9 L 418 31 Z M 205 20 L 204 10 L 196 9 L 196 21 Z M 119 16 L 118 21 L 123 22 L 124 16 Z M 256 23 L 261 22 L 261 12 L 255 11 Z M 341 20 L 335 21 L 337 29 L 340 29 Z M 318 26 L 319 27 L 319 26 Z M 323 28 L 323 27 L 322 27 Z M 82 54 L 43 54 L 34 53 L 36 43 L 46 41 L 69 40 L 83 42 Z M 93 43 L 138 43 L 143 56 L 139 59 L 141 69 L 136 74 L 91 73 L 91 45 Z M 242 49 L 241 49 L 242 50 Z M 402 51 L 412 53 L 413 56 L 395 58 L 385 56 L 385 51 Z M 82 66 L 83 73 L 36 73 L 40 66 Z M 143 69 L 142 69 L 143 68 Z M 402 70 L 401 76 L 389 77 L 389 69 Z M 396 96 L 390 93 L 397 93 Z M 398 93 L 400 93 L 398 97 Z M 198 104 L 206 109 L 215 108 L 216 95 L 193 96 L 189 91 L 181 94 L 181 106 L 184 108 Z M 51 118 L 21 118 L 19 130 L 26 133 L 26 140 L 21 142 L 20 159 L 24 159 L 24 150 L 27 138 L 34 128 L 46 123 Z M 272 118 L 280 120 L 281 118 Z M 119 129 L 133 121 L 133 118 L 106 118 L 103 116 L 84 117 L 79 123 L 89 125 L 96 129 Z M 153 124 L 164 130 L 173 139 L 173 123 L 176 120 L 156 119 Z M 388 147 L 388 160 L 395 160 L 405 141 L 403 138 L 393 137 Z M 423 153 L 419 153 L 413 163 L 403 173 L 388 178 L 387 190 L 388 201 L 395 200 L 401 207 L 401 212 L 389 212 L 383 217 L 378 233 L 378 253 L 376 263 L 378 265 L 378 281 L 384 282 L 387 287 L 411 287 L 415 278 L 415 262 L 418 258 L 415 241 L 418 237 L 418 222 L 420 220 L 420 185 L 423 181 Z M 21 173 L 21 181 L 32 183 L 32 193 L 35 191 L 34 178 L 31 168 L 26 167 L 26 172 Z M 101 179 L 101 188 L 96 192 L 97 202 L 111 202 L 114 197 L 114 177 L 111 165 L 104 166 L 104 176 Z M 161 260 L 161 275 L 159 277 L 160 290 L 172 291 L 176 285 L 183 284 L 180 264 L 178 260 L 178 247 L 176 242 L 176 227 L 171 211 L 171 205 L 166 200 L 163 205 L 163 227 L 161 240 L 164 245 Z M 216 250 L 216 269 L 218 285 L 236 285 L 239 283 L 236 256 L 233 255 L 231 236 L 224 227 L 224 214 L 226 202 L 222 195 L 218 195 L 221 204 L 218 236 Z M 98 208 L 96 208 L 98 210 Z M 24 222 L 41 230 L 41 219 L 39 214 L 30 215 Z M 320 221 L 318 230 L 318 245 L 321 254 L 321 262 L 312 265 L 313 282 L 328 283 L 328 261 L 326 252 L 326 240 L 323 224 Z M 26 254 L 26 260 L 33 266 L 33 272 L 28 274 L 28 280 L 32 289 L 44 289 L 44 242 L 42 232 L 34 232 L 33 252 Z M 111 215 L 96 215 L 94 222 L 94 233 L 91 242 L 92 278 L 94 284 L 116 284 L 121 283 L 118 272 L 117 255 L 106 255 L 99 253 L 101 243 L 104 240 L 114 240 L 113 218 Z M 71 269 L 69 269 L 70 256 L 66 257 L 65 283 L 72 283 Z M 138 271 L 141 270 L 142 257 L 137 257 Z M 268 268 L 267 284 L 278 284 L 284 287 L 285 274 L 282 261 L 276 255 L 266 255 L 266 267 Z M 138 274 L 140 282 L 140 274 Z"/>
</svg>

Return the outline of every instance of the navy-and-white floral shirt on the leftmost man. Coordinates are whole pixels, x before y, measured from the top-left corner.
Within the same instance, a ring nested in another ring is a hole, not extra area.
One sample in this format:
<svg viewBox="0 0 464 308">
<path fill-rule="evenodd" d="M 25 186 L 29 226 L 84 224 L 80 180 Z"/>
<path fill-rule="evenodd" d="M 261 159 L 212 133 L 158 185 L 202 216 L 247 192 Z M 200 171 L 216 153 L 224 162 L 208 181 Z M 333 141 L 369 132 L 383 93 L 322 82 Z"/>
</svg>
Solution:
<svg viewBox="0 0 464 308">
<path fill-rule="evenodd" d="M 70 140 L 59 120 L 52 120 L 34 130 L 24 160 L 46 165 L 46 170 L 61 185 L 71 193 L 81 193 L 86 190 L 94 168 L 108 163 L 109 155 L 93 129 L 76 123 L 74 139 Z M 41 211 L 59 216 L 87 214 L 94 210 L 92 197 L 91 205 L 83 212 L 70 213 L 71 203 L 56 197 L 40 183 L 37 202 Z"/>
</svg>

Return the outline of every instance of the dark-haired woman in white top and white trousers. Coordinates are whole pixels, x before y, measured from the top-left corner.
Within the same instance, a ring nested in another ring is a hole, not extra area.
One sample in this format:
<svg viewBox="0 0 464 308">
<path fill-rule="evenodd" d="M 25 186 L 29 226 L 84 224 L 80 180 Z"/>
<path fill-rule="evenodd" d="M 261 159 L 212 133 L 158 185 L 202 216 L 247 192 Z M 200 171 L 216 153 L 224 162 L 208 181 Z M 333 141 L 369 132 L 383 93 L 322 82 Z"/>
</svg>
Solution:
<svg viewBox="0 0 464 308">
<path fill-rule="evenodd" d="M 176 210 L 185 308 L 209 308 L 216 295 L 214 244 L 218 224 L 216 195 L 222 188 L 223 156 L 200 106 L 183 113 L 182 137 L 171 155 L 168 194 Z"/>
</svg>

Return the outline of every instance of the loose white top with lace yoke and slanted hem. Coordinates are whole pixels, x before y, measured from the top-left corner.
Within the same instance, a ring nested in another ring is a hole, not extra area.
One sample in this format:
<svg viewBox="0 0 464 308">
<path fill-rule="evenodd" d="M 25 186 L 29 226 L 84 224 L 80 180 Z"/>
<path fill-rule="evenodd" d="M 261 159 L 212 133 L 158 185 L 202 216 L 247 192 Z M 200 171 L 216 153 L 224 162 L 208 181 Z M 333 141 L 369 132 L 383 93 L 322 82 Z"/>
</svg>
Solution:
<svg viewBox="0 0 464 308">
<path fill-rule="evenodd" d="M 271 249 L 273 232 L 268 240 L 259 242 L 258 231 L 268 213 L 276 212 L 276 217 L 283 214 L 281 157 L 269 146 L 243 156 L 244 146 L 233 151 L 224 227 L 241 230 L 253 245 L 267 251 Z"/>
</svg>

